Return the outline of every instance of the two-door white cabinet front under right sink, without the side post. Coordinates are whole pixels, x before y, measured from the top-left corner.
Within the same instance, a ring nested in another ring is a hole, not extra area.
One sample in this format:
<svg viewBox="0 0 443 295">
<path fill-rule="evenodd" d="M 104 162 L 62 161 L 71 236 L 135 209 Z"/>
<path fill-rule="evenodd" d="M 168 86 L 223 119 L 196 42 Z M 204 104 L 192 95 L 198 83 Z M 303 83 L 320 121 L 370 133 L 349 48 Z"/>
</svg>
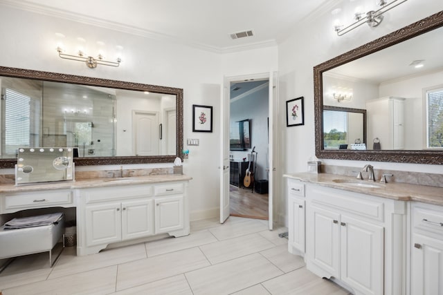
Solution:
<svg viewBox="0 0 443 295">
<path fill-rule="evenodd" d="M 383 206 L 359 195 L 347 198 L 347 194 L 308 189 L 307 267 L 343 281 L 358 294 L 383 294 L 384 227 L 363 217 L 382 218 L 377 211 L 383 211 Z"/>
</svg>

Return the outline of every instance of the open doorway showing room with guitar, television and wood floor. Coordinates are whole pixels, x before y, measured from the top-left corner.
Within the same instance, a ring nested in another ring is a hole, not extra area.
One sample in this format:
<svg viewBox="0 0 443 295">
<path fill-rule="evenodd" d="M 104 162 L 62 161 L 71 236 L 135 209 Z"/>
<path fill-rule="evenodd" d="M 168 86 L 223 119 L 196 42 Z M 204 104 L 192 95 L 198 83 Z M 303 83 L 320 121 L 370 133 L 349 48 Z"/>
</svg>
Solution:
<svg viewBox="0 0 443 295">
<path fill-rule="evenodd" d="M 230 216 L 269 219 L 269 80 L 230 82 Z"/>
</svg>

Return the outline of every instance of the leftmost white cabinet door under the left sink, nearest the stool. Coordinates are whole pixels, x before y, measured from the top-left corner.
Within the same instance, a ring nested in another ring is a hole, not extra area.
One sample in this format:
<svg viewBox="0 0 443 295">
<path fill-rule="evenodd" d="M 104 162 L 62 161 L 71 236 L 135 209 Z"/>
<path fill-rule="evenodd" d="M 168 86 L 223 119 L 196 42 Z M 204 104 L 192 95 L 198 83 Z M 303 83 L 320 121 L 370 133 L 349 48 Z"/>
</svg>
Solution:
<svg viewBox="0 0 443 295">
<path fill-rule="evenodd" d="M 120 202 L 86 207 L 87 246 L 117 242 L 121 237 Z"/>
</svg>

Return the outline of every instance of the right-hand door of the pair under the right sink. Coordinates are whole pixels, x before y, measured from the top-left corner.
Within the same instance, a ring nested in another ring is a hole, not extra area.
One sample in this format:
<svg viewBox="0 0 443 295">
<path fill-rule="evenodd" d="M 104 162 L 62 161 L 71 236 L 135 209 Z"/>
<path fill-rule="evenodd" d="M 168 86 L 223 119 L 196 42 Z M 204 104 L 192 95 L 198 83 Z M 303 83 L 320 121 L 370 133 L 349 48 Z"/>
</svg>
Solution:
<svg viewBox="0 0 443 295">
<path fill-rule="evenodd" d="M 362 294 L 383 294 L 383 227 L 341 216 L 341 279 Z"/>
</svg>

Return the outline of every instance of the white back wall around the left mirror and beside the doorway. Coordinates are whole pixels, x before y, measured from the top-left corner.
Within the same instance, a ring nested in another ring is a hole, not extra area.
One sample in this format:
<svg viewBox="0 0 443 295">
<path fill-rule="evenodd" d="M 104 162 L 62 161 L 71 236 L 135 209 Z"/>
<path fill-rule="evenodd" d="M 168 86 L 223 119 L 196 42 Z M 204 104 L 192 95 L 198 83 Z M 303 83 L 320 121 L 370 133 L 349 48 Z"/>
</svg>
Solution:
<svg viewBox="0 0 443 295">
<path fill-rule="evenodd" d="M 183 140 L 185 149 L 190 150 L 183 172 L 192 176 L 188 189 L 191 219 L 219 216 L 219 113 L 223 77 L 277 70 L 276 46 L 219 55 L 6 6 L 1 7 L 0 19 L 3 39 L 0 66 L 183 88 Z M 110 48 L 108 56 L 114 54 L 116 45 L 123 46 L 123 61 L 119 68 L 98 66 L 91 70 L 81 62 L 60 59 L 55 50 L 59 41 L 56 32 L 66 36 L 64 45 L 70 53 L 76 52 L 77 37 L 87 40 L 85 47 L 90 48 L 91 55 L 95 55 L 93 49 L 98 50 L 96 41 L 104 41 Z M 192 104 L 213 106 L 213 133 L 192 133 Z M 186 146 L 187 138 L 199 139 L 200 145 Z M 103 167 L 77 167 L 78 170 L 100 168 Z M 2 171 L 11 172 L 12 169 Z"/>
</svg>

